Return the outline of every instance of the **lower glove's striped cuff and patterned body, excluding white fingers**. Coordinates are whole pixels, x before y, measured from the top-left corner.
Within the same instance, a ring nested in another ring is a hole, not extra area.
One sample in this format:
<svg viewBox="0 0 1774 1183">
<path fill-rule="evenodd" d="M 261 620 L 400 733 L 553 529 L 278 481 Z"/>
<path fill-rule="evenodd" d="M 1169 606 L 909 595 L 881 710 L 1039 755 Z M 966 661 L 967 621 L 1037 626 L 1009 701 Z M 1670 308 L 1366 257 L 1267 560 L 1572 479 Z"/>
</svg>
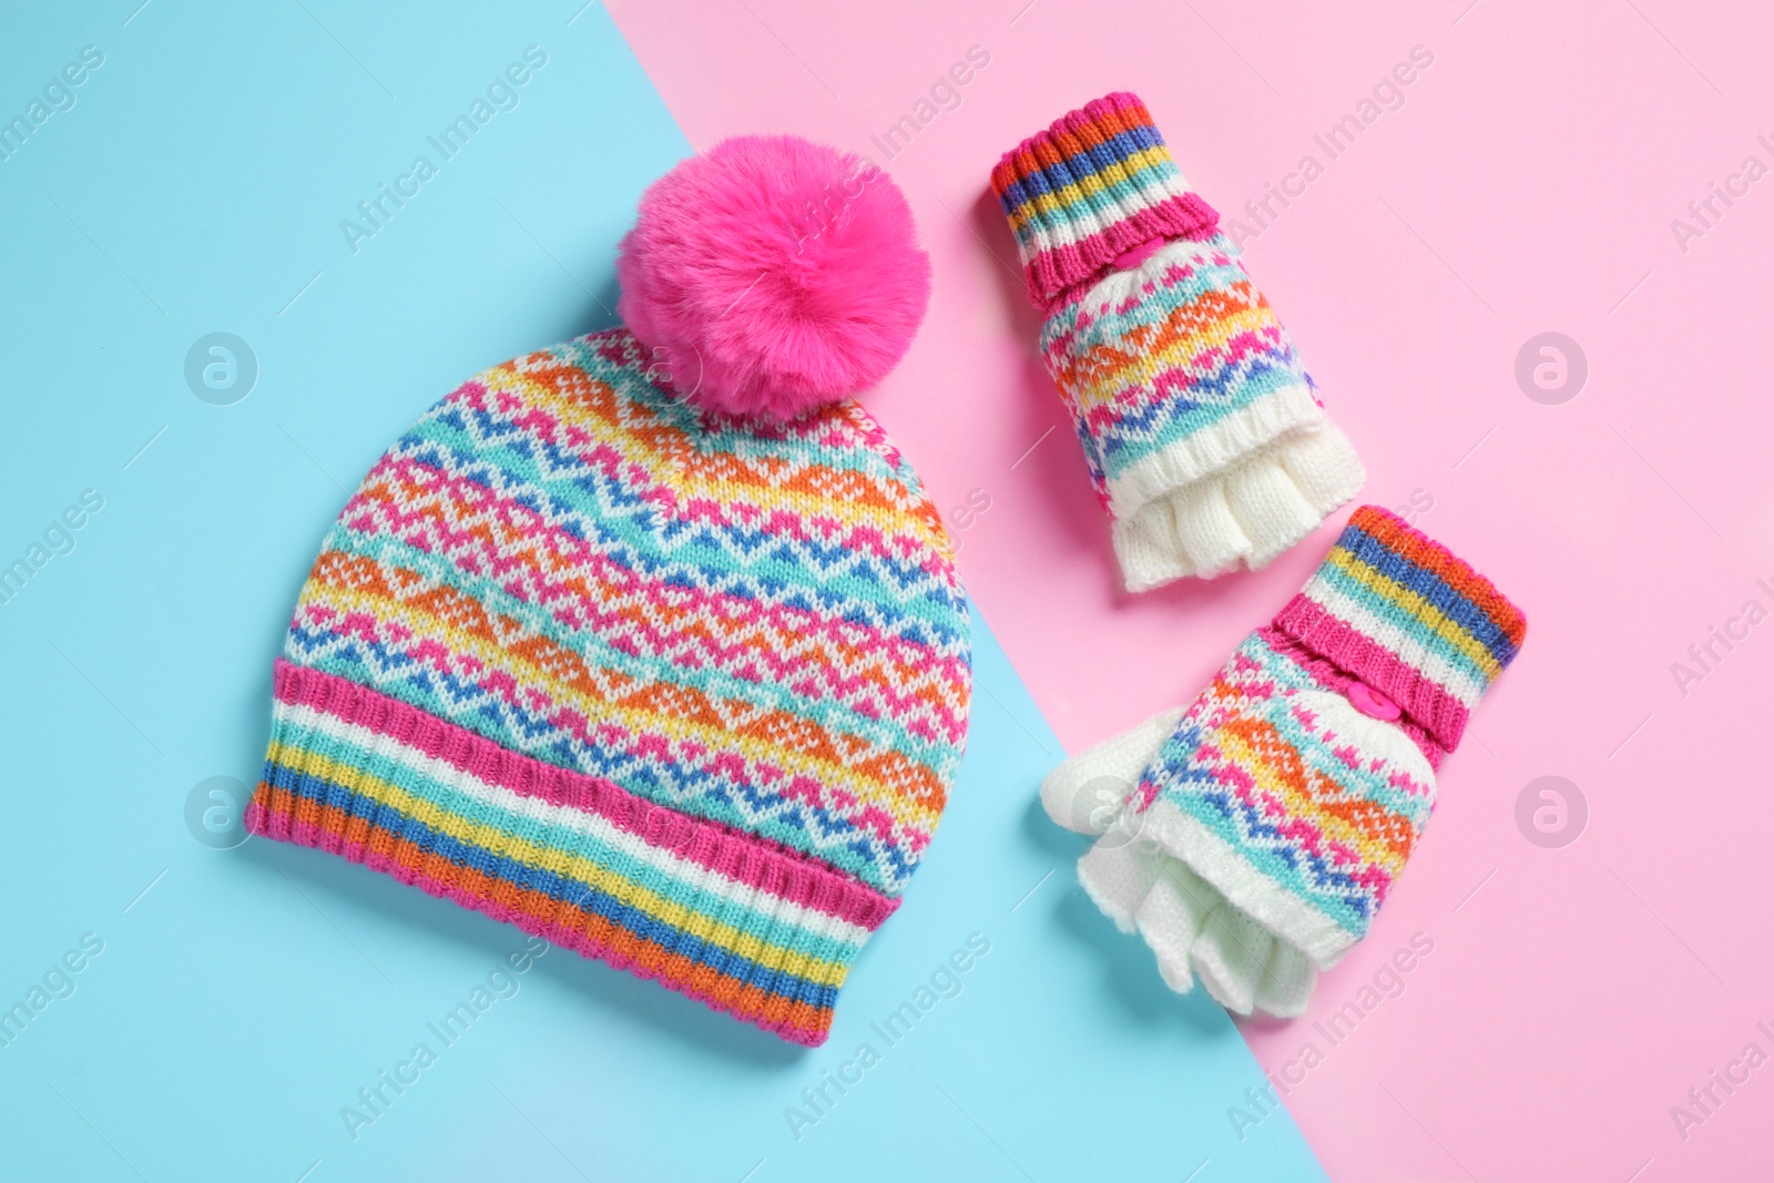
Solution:
<svg viewBox="0 0 1774 1183">
<path fill-rule="evenodd" d="M 1332 963 L 1428 825 L 1435 768 L 1458 741 L 1448 704 L 1464 727 L 1524 637 L 1490 580 L 1361 507 L 1306 592 L 1233 651 L 1158 750 L 1132 796 L 1142 832 Z"/>
</svg>

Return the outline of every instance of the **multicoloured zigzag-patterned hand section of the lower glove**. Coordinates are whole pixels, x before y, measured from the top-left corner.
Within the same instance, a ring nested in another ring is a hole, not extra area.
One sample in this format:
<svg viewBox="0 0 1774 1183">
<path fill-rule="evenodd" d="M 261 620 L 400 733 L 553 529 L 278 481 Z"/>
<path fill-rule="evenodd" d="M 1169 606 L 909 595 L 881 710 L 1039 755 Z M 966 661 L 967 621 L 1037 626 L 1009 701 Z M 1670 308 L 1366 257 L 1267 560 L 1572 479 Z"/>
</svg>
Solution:
<svg viewBox="0 0 1774 1183">
<path fill-rule="evenodd" d="M 1387 759 L 1339 734 L 1322 708 L 1329 686 L 1284 646 L 1265 630 L 1233 651 L 1158 750 L 1132 807 L 1162 802 L 1212 834 L 1212 846 L 1242 866 L 1196 871 L 1235 901 L 1244 903 L 1240 885 L 1261 878 L 1295 901 L 1286 919 L 1316 915 L 1341 931 L 1309 940 L 1323 924 L 1284 919 L 1293 931 L 1281 935 L 1313 952 L 1368 933 L 1428 823 L 1435 782 L 1426 761 Z M 1153 825 L 1162 837 L 1164 823 Z"/>
</svg>

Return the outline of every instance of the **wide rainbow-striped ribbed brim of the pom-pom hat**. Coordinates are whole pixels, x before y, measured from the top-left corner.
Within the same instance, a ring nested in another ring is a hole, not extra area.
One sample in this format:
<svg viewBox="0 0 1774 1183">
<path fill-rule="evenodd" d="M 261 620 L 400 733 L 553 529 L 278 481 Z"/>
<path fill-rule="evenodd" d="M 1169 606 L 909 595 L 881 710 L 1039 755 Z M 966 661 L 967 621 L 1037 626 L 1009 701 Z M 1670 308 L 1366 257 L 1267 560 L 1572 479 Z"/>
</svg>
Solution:
<svg viewBox="0 0 1774 1183">
<path fill-rule="evenodd" d="M 282 660 L 247 828 L 809 1046 L 825 1043 L 850 965 L 898 906 L 766 839 Z"/>
</svg>

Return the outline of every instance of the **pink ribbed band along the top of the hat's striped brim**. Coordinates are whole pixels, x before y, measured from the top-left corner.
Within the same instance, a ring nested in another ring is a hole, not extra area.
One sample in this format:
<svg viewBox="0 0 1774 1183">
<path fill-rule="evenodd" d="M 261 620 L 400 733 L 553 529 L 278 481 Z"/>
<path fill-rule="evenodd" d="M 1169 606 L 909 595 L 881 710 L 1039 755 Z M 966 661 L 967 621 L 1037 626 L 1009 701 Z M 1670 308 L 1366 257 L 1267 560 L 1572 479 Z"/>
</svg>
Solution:
<svg viewBox="0 0 1774 1183">
<path fill-rule="evenodd" d="M 279 702 L 307 706 L 367 727 L 520 796 L 539 796 L 552 805 L 598 814 L 616 828 L 639 835 L 648 846 L 859 928 L 875 931 L 899 906 L 898 899 L 779 842 L 656 805 L 614 780 L 513 752 L 335 674 L 279 658 L 273 693 Z"/>
</svg>

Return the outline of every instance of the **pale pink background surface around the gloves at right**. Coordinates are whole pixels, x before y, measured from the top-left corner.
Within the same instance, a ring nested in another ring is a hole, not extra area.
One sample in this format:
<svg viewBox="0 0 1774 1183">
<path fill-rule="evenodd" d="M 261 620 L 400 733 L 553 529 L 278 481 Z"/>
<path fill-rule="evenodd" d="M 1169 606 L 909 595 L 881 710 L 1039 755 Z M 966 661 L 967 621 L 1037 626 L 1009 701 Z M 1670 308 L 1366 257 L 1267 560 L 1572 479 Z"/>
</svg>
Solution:
<svg viewBox="0 0 1774 1183">
<path fill-rule="evenodd" d="M 1318 156 L 1247 266 L 1361 450 L 1364 500 L 1432 498 L 1419 525 L 1526 608 L 1529 640 L 1448 763 L 1371 940 L 1307 1018 L 1245 1034 L 1272 1071 L 1307 1041 L 1323 1052 L 1288 1107 L 1338 1179 L 1769 1178 L 1774 1066 L 1685 1139 L 1671 1107 L 1747 1043 L 1774 1054 L 1756 1030 L 1774 1029 L 1774 621 L 1685 697 L 1671 663 L 1746 599 L 1774 610 L 1756 587 L 1774 585 L 1774 177 L 1685 252 L 1671 218 L 1746 156 L 1774 167 L 1756 144 L 1774 142 L 1774 18 L 1669 0 L 1025 2 L 610 7 L 697 147 L 797 131 L 907 190 L 935 300 L 871 403 L 938 505 L 990 498 L 951 514 L 962 569 L 1070 750 L 1189 697 L 1345 514 L 1258 575 L 1118 594 L 988 168 L 1114 89 L 1146 99 L 1226 218 Z M 885 160 L 871 135 L 974 44 L 992 60 L 960 108 Z M 1313 135 L 1419 44 L 1435 60 L 1403 108 L 1329 160 Z M 1515 381 L 1547 330 L 1590 364 L 1559 406 Z M 1515 823 L 1542 775 L 1590 807 L 1561 850 Z M 1330 1046 L 1313 1022 L 1417 931 L 1433 952 L 1403 995 Z"/>
</svg>

